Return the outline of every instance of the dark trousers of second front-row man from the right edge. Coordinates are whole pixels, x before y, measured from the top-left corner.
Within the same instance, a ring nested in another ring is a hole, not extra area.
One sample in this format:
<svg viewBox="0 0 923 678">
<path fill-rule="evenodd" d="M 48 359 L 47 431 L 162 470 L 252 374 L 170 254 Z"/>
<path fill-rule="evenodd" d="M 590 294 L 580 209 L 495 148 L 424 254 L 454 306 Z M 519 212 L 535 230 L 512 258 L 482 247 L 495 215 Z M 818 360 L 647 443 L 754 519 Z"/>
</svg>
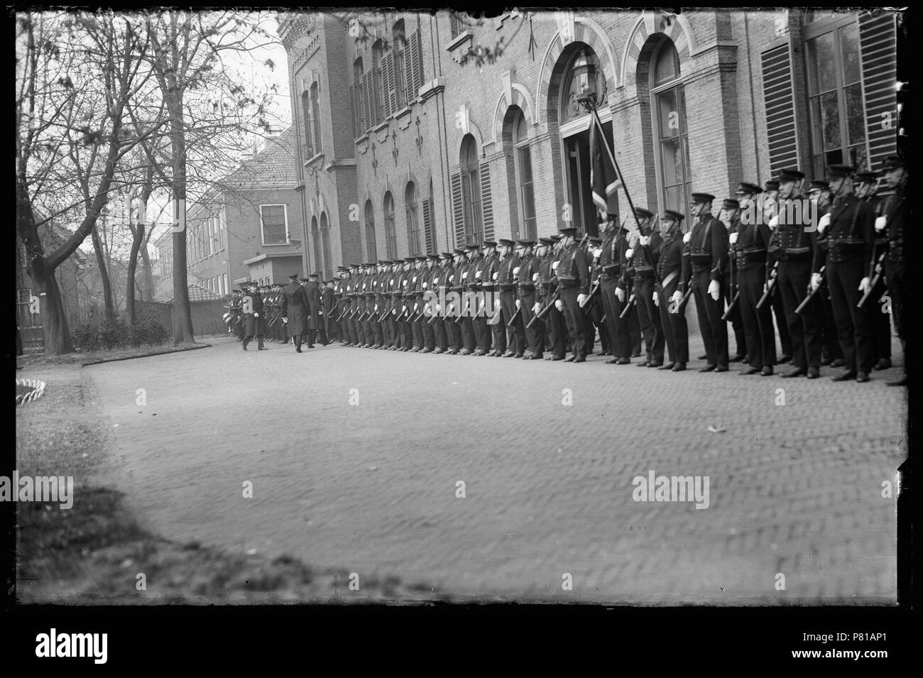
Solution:
<svg viewBox="0 0 923 678">
<path fill-rule="evenodd" d="M 843 349 L 847 372 L 869 372 L 872 367 L 872 332 L 869 312 L 857 308 L 862 297 L 859 281 L 866 274 L 862 257 L 827 263 L 827 285 L 833 306 L 836 337 Z"/>
</svg>

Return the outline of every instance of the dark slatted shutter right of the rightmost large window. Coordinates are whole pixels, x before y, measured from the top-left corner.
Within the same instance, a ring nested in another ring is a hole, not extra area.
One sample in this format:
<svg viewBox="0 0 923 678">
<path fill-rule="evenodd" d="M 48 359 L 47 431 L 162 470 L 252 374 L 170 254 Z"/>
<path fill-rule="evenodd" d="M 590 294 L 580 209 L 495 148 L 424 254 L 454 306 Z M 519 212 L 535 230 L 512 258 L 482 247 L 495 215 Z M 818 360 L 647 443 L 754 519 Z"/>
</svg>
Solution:
<svg viewBox="0 0 923 678">
<path fill-rule="evenodd" d="M 865 89 L 869 170 L 897 149 L 897 33 L 893 13 L 859 15 L 859 51 Z M 889 123 L 890 119 L 890 124 Z"/>
</svg>

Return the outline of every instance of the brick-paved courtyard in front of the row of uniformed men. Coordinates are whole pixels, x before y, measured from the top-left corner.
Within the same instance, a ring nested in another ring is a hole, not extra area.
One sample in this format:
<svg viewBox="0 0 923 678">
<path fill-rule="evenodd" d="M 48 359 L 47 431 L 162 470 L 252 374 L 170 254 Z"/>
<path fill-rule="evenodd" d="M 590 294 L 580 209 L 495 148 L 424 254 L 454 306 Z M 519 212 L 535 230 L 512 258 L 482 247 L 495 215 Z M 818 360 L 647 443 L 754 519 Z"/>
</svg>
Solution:
<svg viewBox="0 0 923 678">
<path fill-rule="evenodd" d="M 881 483 L 905 457 L 905 389 L 884 385 L 896 369 L 859 385 L 599 355 L 214 343 L 84 368 L 110 418 L 109 472 L 164 537 L 462 598 L 895 599 L 895 500 Z M 652 470 L 708 476 L 708 508 L 634 501 L 632 479 Z"/>
</svg>

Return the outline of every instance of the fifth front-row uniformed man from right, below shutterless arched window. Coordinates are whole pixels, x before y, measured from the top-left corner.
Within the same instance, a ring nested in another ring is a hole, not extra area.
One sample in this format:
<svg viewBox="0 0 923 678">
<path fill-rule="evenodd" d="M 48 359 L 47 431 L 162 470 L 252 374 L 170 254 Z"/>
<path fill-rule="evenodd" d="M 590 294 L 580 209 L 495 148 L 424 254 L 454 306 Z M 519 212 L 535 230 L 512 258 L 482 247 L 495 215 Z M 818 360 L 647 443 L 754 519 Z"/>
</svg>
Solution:
<svg viewBox="0 0 923 678">
<path fill-rule="evenodd" d="M 713 200 L 714 196 L 707 193 L 692 194 L 695 221 L 689 231 L 688 261 L 696 314 L 708 360 L 699 371 L 727 372 L 727 325 L 721 319 L 725 312 L 723 271 L 727 259 L 727 231 L 725 225 L 712 216 Z"/>
</svg>

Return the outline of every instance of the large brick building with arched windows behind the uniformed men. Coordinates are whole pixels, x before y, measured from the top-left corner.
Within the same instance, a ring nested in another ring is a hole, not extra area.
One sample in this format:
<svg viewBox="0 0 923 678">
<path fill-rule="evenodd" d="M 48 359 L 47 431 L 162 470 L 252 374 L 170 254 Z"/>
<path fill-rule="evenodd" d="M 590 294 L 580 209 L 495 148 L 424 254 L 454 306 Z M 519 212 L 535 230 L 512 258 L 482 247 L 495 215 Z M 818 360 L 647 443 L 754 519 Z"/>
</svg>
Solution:
<svg viewBox="0 0 923 678">
<path fill-rule="evenodd" d="M 688 211 L 797 165 L 877 168 L 896 139 L 893 13 L 287 13 L 312 268 L 596 232 L 597 94 L 636 206 Z M 503 41 L 495 63 L 462 65 Z M 620 213 L 627 214 L 619 192 Z M 612 206 L 615 208 L 616 206 Z"/>
</svg>

